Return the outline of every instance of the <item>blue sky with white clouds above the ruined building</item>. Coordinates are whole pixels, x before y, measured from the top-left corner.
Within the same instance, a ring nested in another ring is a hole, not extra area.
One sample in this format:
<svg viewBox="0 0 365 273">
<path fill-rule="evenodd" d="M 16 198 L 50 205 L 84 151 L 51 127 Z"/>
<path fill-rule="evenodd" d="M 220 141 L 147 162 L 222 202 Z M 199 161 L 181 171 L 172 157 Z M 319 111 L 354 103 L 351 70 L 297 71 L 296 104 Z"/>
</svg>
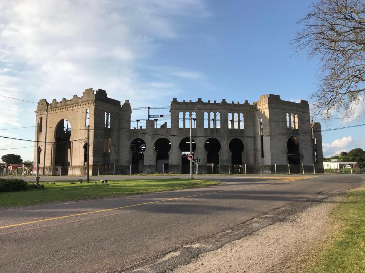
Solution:
<svg viewBox="0 0 365 273">
<path fill-rule="evenodd" d="M 38 102 L 107 90 L 132 107 L 172 98 L 308 99 L 316 60 L 290 40 L 310 1 L 0 0 L 0 95 Z M 35 104 L 0 97 L 0 135 L 34 139 Z M 364 115 L 362 102 L 354 115 Z M 11 109 L 11 111 L 8 111 Z M 161 114 L 161 112 L 156 112 Z M 146 112 L 132 113 L 145 118 Z M 334 114 L 341 117 L 341 114 Z M 333 120 L 322 128 L 364 123 Z M 17 128 L 14 130 L 3 130 Z M 324 155 L 365 149 L 363 127 L 323 132 Z M 31 146 L 0 140 L 0 149 Z M 33 150 L 2 150 L 32 159 Z"/>
</svg>

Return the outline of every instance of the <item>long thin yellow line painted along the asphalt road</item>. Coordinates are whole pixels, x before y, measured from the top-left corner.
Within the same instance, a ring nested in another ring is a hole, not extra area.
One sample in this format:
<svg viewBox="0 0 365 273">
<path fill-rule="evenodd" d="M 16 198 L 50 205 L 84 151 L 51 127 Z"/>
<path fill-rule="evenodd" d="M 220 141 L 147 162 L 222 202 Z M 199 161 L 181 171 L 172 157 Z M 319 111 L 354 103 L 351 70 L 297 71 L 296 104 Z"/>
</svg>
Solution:
<svg viewBox="0 0 365 273">
<path fill-rule="evenodd" d="M 310 177 L 300 178 L 300 179 L 307 179 L 307 178 L 310 178 Z M 284 180 L 284 179 L 283 179 L 283 180 Z M 296 179 L 296 180 L 299 180 L 299 179 Z M 284 181 L 284 182 L 288 182 L 288 181 Z M 283 182 L 283 181 L 280 181 L 280 182 L 273 182 L 273 183 L 270 183 L 270 184 L 277 184 L 277 183 L 284 183 L 284 182 Z M 45 221 L 51 221 L 51 220 L 57 220 L 57 219 L 68 218 L 68 217 L 74 217 L 74 216 L 80 216 L 80 215 L 86 215 L 86 214 L 91 214 L 91 213 L 99 213 L 99 212 L 104 212 L 104 211 L 111 211 L 111 210 L 125 209 L 125 208 L 127 208 L 127 207 L 135 207 L 135 206 L 141 206 L 141 205 L 153 204 L 153 203 L 158 203 L 158 202 L 166 202 L 166 201 L 177 200 L 177 199 L 182 199 L 182 198 L 189 198 L 189 197 L 195 197 L 195 196 L 201 196 L 201 195 L 207 195 L 207 194 L 214 194 L 214 193 L 223 193 L 223 192 L 225 192 L 225 191 L 242 190 L 242 189 L 248 189 L 248 188 L 253 188 L 253 187 L 261 187 L 261 186 L 266 186 L 266 184 L 263 184 L 263 185 L 255 185 L 255 186 L 249 186 L 249 187 L 241 187 L 241 188 L 237 188 L 237 189 L 230 189 L 230 190 L 220 190 L 220 191 L 214 191 L 214 192 L 212 192 L 212 193 L 200 193 L 200 194 L 194 194 L 194 195 L 188 195 L 188 196 L 182 196 L 182 197 L 176 197 L 176 198 L 168 198 L 168 199 L 162 199 L 162 200 L 157 200 L 157 201 L 151 201 L 151 202 L 146 202 L 146 203 L 139 203 L 139 204 L 135 204 L 135 205 L 128 205 L 128 206 L 122 206 L 122 207 L 113 207 L 113 208 L 111 208 L 111 209 L 94 210 L 94 211 L 88 211 L 88 212 L 83 212 L 83 213 L 70 214 L 70 215 L 64 215 L 64 216 L 58 216 L 58 217 L 52 217 L 52 218 L 46 218 L 46 219 L 35 220 L 35 221 L 30 221 L 30 222 L 24 222 L 24 223 L 12 224 L 12 225 L 7 225 L 7 226 L 0 226 L 0 229 L 3 229 L 3 228 L 5 228 L 5 227 L 23 226 L 23 225 L 33 224 L 33 223 L 39 223 L 39 222 L 45 222 Z"/>
</svg>

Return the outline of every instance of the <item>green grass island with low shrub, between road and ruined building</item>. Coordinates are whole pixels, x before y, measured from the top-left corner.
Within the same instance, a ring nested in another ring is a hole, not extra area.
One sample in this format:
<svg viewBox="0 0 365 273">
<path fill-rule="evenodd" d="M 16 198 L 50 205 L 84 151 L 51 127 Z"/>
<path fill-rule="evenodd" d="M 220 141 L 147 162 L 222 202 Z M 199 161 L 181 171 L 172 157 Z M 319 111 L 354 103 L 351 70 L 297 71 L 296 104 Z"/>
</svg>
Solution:
<svg viewBox="0 0 365 273">
<path fill-rule="evenodd" d="M 153 193 L 180 189 L 191 189 L 216 185 L 218 182 L 207 180 L 189 179 L 134 179 L 134 180 L 109 180 L 107 186 L 98 183 L 70 184 L 71 181 L 54 181 L 55 185 L 41 182 L 44 189 L 0 193 L 0 207 L 26 206 L 55 201 L 69 201 L 79 199 L 93 199 L 108 196 L 120 196 L 141 193 Z M 61 190 L 64 189 L 64 190 Z"/>
</svg>

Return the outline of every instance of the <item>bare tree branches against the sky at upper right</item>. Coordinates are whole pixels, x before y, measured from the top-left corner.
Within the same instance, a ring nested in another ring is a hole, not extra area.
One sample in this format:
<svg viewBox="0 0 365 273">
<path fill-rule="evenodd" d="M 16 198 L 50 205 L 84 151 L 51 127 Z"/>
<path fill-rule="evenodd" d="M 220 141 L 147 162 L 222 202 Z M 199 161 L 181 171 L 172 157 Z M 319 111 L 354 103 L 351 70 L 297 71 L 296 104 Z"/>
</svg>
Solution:
<svg viewBox="0 0 365 273">
<path fill-rule="evenodd" d="M 318 90 L 311 95 L 315 114 L 351 114 L 365 95 L 364 0 L 319 0 L 298 23 L 292 45 L 322 64 Z"/>
</svg>

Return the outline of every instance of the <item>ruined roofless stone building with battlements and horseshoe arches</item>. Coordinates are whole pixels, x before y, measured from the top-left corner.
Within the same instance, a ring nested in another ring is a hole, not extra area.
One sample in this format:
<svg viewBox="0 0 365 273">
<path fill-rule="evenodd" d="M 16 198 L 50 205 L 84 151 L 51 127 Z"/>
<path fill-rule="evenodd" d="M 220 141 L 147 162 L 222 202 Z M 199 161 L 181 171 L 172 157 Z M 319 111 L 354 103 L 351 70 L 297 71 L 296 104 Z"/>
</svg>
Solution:
<svg viewBox="0 0 365 273">
<path fill-rule="evenodd" d="M 81 98 L 42 99 L 35 112 L 40 175 L 86 174 L 88 125 L 91 175 L 188 173 L 191 115 L 192 150 L 200 159 L 194 173 L 323 171 L 321 126 L 311 122 L 306 100 L 288 102 L 272 94 L 252 104 L 173 99 L 170 115 L 144 121 L 131 120 L 128 100 L 121 105 L 104 90 L 86 89 Z"/>
</svg>

